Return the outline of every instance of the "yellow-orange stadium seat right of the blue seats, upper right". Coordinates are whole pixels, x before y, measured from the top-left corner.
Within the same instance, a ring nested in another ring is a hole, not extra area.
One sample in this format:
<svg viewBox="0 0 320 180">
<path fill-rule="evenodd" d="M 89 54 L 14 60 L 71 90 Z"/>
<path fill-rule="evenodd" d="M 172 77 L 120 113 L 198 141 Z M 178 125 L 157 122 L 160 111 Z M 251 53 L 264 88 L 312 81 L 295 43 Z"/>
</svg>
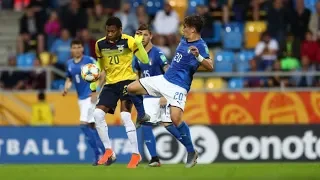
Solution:
<svg viewBox="0 0 320 180">
<path fill-rule="evenodd" d="M 267 30 L 267 24 L 264 21 L 249 21 L 245 25 L 245 47 L 255 48 L 260 41 L 260 35 Z"/>
</svg>

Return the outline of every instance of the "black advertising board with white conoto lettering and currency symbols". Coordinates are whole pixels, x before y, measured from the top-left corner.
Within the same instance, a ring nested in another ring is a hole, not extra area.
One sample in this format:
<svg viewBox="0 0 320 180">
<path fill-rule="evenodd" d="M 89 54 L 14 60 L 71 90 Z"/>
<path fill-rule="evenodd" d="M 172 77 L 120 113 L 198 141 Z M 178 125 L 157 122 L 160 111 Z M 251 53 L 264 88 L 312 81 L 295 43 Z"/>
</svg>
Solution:
<svg viewBox="0 0 320 180">
<path fill-rule="evenodd" d="M 199 164 L 320 161 L 320 125 L 190 127 Z M 186 161 L 185 148 L 163 127 L 154 129 L 162 163 Z M 148 159 L 147 148 L 144 152 Z"/>
</svg>

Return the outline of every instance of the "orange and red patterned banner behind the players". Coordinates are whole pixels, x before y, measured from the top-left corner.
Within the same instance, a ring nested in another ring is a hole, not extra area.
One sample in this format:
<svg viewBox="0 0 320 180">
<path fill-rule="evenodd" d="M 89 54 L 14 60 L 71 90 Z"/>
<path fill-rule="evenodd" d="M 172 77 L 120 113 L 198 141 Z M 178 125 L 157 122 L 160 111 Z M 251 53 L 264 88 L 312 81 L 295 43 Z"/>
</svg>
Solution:
<svg viewBox="0 0 320 180">
<path fill-rule="evenodd" d="M 26 125 L 36 93 L 0 94 L 0 125 Z M 55 110 L 55 125 L 77 125 L 80 113 L 75 93 L 62 97 L 48 93 L 47 102 Z M 110 125 L 120 125 L 120 106 L 115 115 L 108 114 Z M 70 109 L 72 109 L 70 111 Z M 318 124 L 320 123 L 320 93 L 318 92 L 252 92 L 252 93 L 190 93 L 183 119 L 188 124 Z M 132 119 L 136 111 L 133 110 Z"/>
</svg>

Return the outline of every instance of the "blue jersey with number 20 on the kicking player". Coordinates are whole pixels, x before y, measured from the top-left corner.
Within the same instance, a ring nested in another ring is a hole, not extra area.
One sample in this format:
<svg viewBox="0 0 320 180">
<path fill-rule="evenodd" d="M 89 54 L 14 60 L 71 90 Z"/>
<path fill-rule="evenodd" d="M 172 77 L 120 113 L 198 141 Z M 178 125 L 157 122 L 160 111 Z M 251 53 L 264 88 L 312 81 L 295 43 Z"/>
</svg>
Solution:
<svg viewBox="0 0 320 180">
<path fill-rule="evenodd" d="M 197 47 L 202 57 L 210 57 L 208 46 L 203 39 L 187 42 L 185 38 L 181 38 L 170 67 L 164 74 L 164 78 L 167 81 L 180 86 L 187 91 L 190 90 L 193 74 L 200 65 L 195 56 L 189 52 L 190 46 Z"/>
</svg>

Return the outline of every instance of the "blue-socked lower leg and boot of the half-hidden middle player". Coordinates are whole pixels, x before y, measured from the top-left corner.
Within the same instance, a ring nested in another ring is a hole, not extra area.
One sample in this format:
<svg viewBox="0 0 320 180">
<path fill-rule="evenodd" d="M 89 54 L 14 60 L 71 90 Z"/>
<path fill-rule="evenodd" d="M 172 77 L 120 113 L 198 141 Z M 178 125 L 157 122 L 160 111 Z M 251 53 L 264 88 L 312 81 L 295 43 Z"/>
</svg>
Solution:
<svg viewBox="0 0 320 180">
<path fill-rule="evenodd" d="M 156 138 L 152 132 L 152 125 L 142 125 L 143 139 L 151 155 L 150 167 L 160 167 L 160 160 L 157 155 Z"/>
</svg>

